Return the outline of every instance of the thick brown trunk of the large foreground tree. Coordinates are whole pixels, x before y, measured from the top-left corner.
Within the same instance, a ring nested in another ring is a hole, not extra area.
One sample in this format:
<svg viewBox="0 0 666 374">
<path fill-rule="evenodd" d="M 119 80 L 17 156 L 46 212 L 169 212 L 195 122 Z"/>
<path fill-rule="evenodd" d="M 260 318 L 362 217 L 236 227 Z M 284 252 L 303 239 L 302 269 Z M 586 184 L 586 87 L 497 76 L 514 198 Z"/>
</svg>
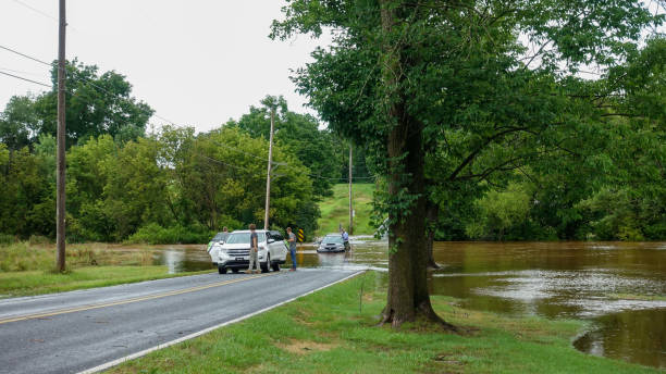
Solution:
<svg viewBox="0 0 666 374">
<path fill-rule="evenodd" d="M 424 319 L 455 331 L 455 326 L 436 315 L 430 303 L 425 250 L 423 125 L 408 114 L 405 95 L 400 90 L 400 48 L 391 42 L 395 7 L 391 0 L 381 0 L 380 4 L 385 37 L 382 76 L 386 90 L 387 121 L 392 125 L 387 138 L 388 195 L 395 198 L 406 189 L 416 197 L 416 200 L 402 211 L 391 210 L 388 214 L 388 295 L 382 323 L 399 327 L 404 322 Z"/>
</svg>

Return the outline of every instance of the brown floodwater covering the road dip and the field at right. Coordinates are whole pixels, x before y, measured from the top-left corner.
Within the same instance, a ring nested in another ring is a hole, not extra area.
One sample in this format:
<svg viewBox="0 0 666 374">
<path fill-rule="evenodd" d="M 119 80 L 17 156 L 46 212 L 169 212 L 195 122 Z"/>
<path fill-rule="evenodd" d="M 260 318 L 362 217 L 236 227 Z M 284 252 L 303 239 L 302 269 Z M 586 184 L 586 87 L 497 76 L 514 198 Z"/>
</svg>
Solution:
<svg viewBox="0 0 666 374">
<path fill-rule="evenodd" d="M 173 272 L 212 269 L 205 246 L 156 250 L 156 263 Z M 469 309 L 584 320 L 577 349 L 666 367 L 666 242 L 436 242 L 434 257 L 443 267 L 429 275 L 432 294 Z M 303 246 L 297 261 L 383 271 L 387 245 L 357 239 L 347 253 Z"/>
</svg>

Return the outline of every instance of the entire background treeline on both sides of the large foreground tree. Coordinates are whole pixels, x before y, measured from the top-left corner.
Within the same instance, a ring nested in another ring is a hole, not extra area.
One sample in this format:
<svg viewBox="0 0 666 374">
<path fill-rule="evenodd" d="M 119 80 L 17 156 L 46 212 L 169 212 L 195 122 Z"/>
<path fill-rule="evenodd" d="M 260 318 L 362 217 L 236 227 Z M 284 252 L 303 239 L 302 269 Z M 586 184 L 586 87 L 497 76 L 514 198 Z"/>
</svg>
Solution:
<svg viewBox="0 0 666 374">
<path fill-rule="evenodd" d="M 653 39 L 607 78 L 569 83 L 572 92 L 622 92 L 594 103 L 604 121 L 568 113 L 590 111 L 577 94 L 558 99 L 557 125 L 509 134 L 503 144 L 440 128 L 431 137 L 436 151 L 425 160 L 434 237 L 666 239 L 664 55 L 666 41 Z M 347 182 L 349 144 L 314 117 L 289 111 L 282 97 L 267 97 L 209 133 L 171 125 L 147 132 L 153 111 L 131 96 L 124 76 L 99 74 L 77 61 L 67 72 L 70 241 L 202 242 L 223 226 L 261 226 L 273 109 L 279 130 L 272 227 L 299 226 L 310 235 L 320 216 L 318 202 L 331 195 L 332 185 Z M 513 95 L 499 84 L 488 87 L 489 92 L 473 87 L 478 100 L 493 103 L 496 90 Z M 54 237 L 55 108 L 53 89 L 14 97 L 0 113 L 2 240 Z M 517 114 L 498 103 L 467 115 L 485 126 Z M 371 147 L 354 147 L 355 182 L 375 182 L 371 171 L 383 162 L 377 154 Z M 467 163 L 469 154 L 477 157 Z M 386 187 L 377 182 L 381 201 Z M 378 214 L 375 224 L 384 219 Z"/>
</svg>

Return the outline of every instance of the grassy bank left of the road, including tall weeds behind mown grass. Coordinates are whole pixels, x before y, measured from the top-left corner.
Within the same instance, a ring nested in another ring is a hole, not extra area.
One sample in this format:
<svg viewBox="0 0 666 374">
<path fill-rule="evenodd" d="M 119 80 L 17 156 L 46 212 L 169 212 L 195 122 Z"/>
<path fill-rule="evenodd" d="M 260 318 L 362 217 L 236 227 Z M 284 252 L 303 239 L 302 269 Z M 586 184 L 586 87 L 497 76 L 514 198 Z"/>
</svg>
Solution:
<svg viewBox="0 0 666 374">
<path fill-rule="evenodd" d="M 0 298 L 192 275 L 153 265 L 151 250 L 119 251 L 104 244 L 67 245 L 64 274 L 53 272 L 53 245 L 0 246 Z"/>
</svg>

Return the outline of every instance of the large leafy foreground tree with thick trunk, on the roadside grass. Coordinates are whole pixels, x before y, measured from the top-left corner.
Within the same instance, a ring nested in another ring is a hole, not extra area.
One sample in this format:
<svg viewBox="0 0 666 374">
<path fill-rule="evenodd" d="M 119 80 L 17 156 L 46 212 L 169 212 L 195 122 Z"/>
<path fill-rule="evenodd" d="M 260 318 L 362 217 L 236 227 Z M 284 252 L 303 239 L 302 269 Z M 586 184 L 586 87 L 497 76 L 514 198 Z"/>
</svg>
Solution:
<svg viewBox="0 0 666 374">
<path fill-rule="evenodd" d="M 427 183 L 488 178 L 562 151 L 558 129 L 600 112 L 578 70 L 621 61 L 662 22 L 638 0 L 292 0 L 283 11 L 273 37 L 332 32 L 296 83 L 387 178 L 378 205 L 391 247 L 383 322 L 394 326 L 443 322 L 427 287 Z M 429 182 L 431 155 L 446 167 L 431 169 Z"/>
</svg>

